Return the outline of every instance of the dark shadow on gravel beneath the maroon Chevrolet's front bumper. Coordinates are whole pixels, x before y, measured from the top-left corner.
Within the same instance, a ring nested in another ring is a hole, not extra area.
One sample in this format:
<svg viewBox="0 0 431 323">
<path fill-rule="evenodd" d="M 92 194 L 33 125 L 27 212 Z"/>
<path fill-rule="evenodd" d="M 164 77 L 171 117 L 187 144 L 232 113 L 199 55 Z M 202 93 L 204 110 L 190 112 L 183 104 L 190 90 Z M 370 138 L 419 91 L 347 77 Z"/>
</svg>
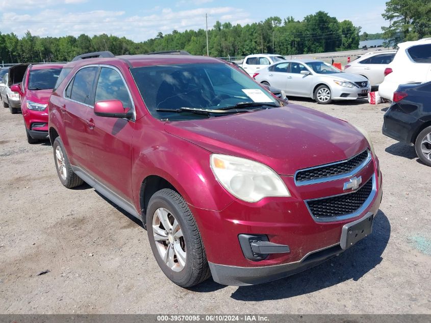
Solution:
<svg viewBox="0 0 431 323">
<path fill-rule="evenodd" d="M 308 294 L 352 279 L 358 281 L 382 261 L 391 234 L 391 225 L 382 211 L 378 211 L 373 224 L 373 233 L 359 241 L 351 249 L 314 268 L 274 282 L 241 286 L 231 297 L 239 301 L 266 301 L 288 299 Z M 210 292 L 224 288 L 212 279 L 190 290 Z"/>
</svg>

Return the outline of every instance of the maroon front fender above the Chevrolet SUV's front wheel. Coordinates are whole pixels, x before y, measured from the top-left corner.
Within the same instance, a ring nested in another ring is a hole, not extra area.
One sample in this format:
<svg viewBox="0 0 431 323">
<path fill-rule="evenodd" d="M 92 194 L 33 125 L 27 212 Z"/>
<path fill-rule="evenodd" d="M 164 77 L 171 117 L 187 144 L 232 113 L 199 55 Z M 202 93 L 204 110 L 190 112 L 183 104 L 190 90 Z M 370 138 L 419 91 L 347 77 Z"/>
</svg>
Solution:
<svg viewBox="0 0 431 323">
<path fill-rule="evenodd" d="M 141 184 L 151 175 L 164 178 L 196 208 L 222 210 L 235 200 L 217 182 L 209 151 L 165 132 L 163 125 L 154 131 L 144 123 L 137 122 L 132 143 L 132 189 L 137 210 L 141 209 Z"/>
</svg>

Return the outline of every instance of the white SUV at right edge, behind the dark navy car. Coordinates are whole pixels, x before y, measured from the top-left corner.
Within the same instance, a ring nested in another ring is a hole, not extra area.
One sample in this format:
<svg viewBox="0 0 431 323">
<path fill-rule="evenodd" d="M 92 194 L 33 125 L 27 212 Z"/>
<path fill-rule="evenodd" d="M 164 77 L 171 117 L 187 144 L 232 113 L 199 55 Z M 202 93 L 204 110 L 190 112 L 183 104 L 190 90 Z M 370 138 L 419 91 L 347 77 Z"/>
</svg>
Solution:
<svg viewBox="0 0 431 323">
<path fill-rule="evenodd" d="M 384 71 L 385 80 L 378 94 L 392 100 L 401 84 L 431 81 L 431 38 L 406 41 L 398 44 L 398 52 Z"/>
</svg>

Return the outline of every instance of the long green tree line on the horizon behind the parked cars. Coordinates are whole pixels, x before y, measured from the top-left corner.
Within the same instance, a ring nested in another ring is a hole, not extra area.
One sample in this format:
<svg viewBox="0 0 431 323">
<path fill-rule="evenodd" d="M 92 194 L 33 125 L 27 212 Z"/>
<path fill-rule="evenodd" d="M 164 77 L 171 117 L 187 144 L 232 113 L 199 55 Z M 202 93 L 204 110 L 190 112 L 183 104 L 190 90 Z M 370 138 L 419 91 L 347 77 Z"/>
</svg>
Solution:
<svg viewBox="0 0 431 323">
<path fill-rule="evenodd" d="M 269 17 L 241 26 L 217 21 L 208 31 L 209 54 L 214 57 L 245 56 L 253 53 L 296 55 L 357 49 L 360 27 L 349 20 L 338 21 L 323 11 L 306 16 Z M 207 54 L 204 29 L 172 31 L 143 42 L 113 35 L 82 34 L 79 37 L 39 37 L 27 31 L 22 38 L 0 32 L 0 63 L 70 61 L 74 56 L 97 51 L 115 55 L 185 50 L 193 55 Z"/>
</svg>

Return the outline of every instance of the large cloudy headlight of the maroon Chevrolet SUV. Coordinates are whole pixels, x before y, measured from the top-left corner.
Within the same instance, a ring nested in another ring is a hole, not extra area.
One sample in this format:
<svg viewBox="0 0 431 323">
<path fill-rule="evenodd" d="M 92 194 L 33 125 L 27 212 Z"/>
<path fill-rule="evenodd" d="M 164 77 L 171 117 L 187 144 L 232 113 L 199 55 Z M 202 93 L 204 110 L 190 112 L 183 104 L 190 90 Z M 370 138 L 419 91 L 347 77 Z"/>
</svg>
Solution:
<svg viewBox="0 0 431 323">
<path fill-rule="evenodd" d="M 220 184 L 242 201 L 258 202 L 268 196 L 290 196 L 280 176 L 264 164 L 213 154 L 211 169 Z"/>
</svg>

